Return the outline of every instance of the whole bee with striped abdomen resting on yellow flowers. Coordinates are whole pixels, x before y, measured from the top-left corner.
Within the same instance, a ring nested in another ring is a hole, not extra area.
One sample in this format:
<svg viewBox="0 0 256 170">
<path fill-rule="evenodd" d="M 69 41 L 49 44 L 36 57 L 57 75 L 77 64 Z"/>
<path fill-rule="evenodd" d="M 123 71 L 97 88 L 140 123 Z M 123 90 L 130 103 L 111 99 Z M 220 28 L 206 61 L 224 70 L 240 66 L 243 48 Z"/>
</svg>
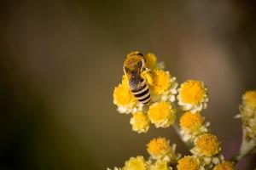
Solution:
<svg viewBox="0 0 256 170">
<path fill-rule="evenodd" d="M 143 54 L 131 52 L 126 55 L 124 72 L 128 77 L 131 94 L 142 104 L 148 104 L 151 100 L 148 83 L 142 76 L 143 71 L 148 71 Z"/>
</svg>

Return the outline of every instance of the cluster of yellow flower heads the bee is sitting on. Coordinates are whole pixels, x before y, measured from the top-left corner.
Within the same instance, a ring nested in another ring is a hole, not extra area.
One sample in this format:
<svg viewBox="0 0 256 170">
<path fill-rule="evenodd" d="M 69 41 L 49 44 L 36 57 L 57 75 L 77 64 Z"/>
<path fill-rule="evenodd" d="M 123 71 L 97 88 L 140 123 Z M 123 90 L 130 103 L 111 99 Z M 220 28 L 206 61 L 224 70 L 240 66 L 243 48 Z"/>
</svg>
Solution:
<svg viewBox="0 0 256 170">
<path fill-rule="evenodd" d="M 150 122 L 155 127 L 169 127 L 176 118 L 176 111 L 172 106 L 177 94 L 176 78 L 162 70 L 163 65 L 154 54 L 145 54 L 144 59 L 147 69 L 141 73 L 141 77 L 148 83 L 151 102 L 143 105 L 137 101 L 131 93 L 127 75 L 123 76 L 122 82 L 113 90 L 113 103 L 118 106 L 119 113 L 131 113 L 132 130 L 137 133 L 147 133 Z"/>
</svg>

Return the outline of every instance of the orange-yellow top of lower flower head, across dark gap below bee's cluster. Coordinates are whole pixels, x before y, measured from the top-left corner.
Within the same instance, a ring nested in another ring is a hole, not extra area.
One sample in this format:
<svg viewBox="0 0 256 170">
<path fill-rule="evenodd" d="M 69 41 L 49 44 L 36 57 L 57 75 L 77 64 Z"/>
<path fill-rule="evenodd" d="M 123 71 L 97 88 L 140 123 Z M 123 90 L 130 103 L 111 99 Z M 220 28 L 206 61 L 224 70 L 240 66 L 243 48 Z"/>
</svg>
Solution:
<svg viewBox="0 0 256 170">
<path fill-rule="evenodd" d="M 171 150 L 169 141 L 165 138 L 152 139 L 147 146 L 148 154 L 156 157 L 166 156 Z"/>
</svg>

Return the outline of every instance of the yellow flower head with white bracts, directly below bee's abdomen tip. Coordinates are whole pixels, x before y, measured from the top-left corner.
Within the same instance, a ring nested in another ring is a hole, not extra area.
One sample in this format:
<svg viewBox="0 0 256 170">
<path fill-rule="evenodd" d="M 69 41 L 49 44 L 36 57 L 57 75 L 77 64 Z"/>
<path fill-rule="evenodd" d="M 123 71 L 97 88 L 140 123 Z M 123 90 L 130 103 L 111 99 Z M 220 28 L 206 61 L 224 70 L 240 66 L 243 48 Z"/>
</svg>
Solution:
<svg viewBox="0 0 256 170">
<path fill-rule="evenodd" d="M 176 118 L 176 111 L 169 102 L 158 102 L 150 105 L 148 118 L 155 127 L 169 127 Z"/>
</svg>

